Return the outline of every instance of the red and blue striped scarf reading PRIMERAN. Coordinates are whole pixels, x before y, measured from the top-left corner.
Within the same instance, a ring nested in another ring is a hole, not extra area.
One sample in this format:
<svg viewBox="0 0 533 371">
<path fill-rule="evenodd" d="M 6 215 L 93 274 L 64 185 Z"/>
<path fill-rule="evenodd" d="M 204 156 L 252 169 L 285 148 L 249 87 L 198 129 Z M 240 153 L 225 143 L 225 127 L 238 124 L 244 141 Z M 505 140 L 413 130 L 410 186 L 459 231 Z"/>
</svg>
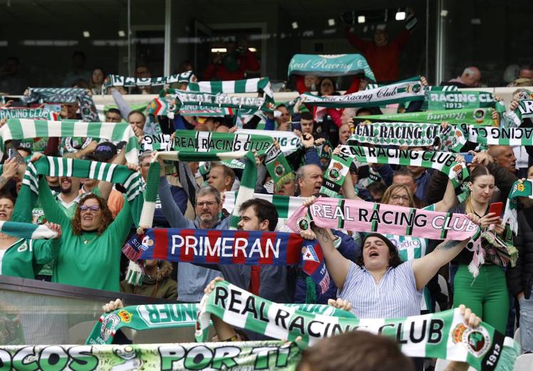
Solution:
<svg viewBox="0 0 533 371">
<path fill-rule="evenodd" d="M 138 241 L 138 238 L 135 238 Z M 329 276 L 318 241 L 298 234 L 270 231 L 223 231 L 208 229 L 147 229 L 138 249 L 138 259 L 170 262 L 292 266 L 299 264 L 326 292 Z M 126 252 L 128 257 L 132 256 Z M 134 256 L 132 256 L 134 257 Z"/>
</svg>

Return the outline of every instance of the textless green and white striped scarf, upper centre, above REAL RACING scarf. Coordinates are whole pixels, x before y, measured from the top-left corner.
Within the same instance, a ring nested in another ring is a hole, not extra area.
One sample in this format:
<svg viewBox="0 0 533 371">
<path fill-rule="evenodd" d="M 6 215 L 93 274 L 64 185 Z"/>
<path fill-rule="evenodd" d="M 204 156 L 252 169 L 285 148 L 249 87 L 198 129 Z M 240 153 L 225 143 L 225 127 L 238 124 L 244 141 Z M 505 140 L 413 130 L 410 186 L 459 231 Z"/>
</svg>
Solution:
<svg viewBox="0 0 533 371">
<path fill-rule="evenodd" d="M 187 90 L 201 93 L 259 93 L 264 91 L 267 102 L 274 102 L 274 90 L 270 85 L 269 78 L 248 78 L 246 80 L 231 81 L 200 81 L 199 83 L 190 83 Z"/>
</svg>

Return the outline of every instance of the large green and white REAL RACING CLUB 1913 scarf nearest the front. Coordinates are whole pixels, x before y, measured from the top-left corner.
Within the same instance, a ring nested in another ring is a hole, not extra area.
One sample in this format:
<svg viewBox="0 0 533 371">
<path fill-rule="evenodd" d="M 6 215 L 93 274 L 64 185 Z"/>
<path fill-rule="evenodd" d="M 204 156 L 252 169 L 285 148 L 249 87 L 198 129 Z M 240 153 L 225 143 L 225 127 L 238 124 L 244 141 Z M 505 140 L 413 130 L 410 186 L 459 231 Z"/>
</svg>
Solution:
<svg viewBox="0 0 533 371">
<path fill-rule="evenodd" d="M 467 362 L 476 370 L 511 371 L 520 348 L 487 323 L 468 328 L 458 308 L 395 319 L 327 317 L 267 301 L 227 281 L 217 282 L 202 298 L 197 341 L 206 340 L 210 315 L 271 338 L 294 341 L 300 336 L 303 346 L 346 331 L 366 330 L 395 338 L 409 357 Z"/>
</svg>

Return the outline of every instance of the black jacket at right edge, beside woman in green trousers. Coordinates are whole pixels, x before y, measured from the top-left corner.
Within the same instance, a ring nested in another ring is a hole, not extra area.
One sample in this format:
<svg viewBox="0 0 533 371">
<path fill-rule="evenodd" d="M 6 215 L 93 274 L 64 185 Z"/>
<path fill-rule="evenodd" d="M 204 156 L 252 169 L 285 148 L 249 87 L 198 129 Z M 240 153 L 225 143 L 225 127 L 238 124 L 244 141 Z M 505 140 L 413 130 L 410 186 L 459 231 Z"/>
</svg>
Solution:
<svg viewBox="0 0 533 371">
<path fill-rule="evenodd" d="M 533 284 L 533 207 L 518 211 L 518 234 L 514 246 L 518 249 L 517 265 L 507 270 L 507 286 L 513 296 L 524 292 L 529 299 Z"/>
</svg>

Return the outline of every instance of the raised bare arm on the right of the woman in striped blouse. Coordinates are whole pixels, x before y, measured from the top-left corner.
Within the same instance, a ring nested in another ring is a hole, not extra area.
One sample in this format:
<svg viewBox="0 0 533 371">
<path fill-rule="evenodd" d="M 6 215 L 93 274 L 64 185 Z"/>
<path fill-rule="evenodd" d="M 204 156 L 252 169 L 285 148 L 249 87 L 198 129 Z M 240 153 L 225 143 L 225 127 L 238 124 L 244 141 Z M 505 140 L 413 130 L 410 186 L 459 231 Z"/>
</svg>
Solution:
<svg viewBox="0 0 533 371">
<path fill-rule="evenodd" d="M 441 266 L 452 261 L 452 258 L 459 255 L 470 239 L 464 241 L 446 240 L 439 244 L 435 250 L 422 258 L 413 261 L 413 271 L 417 290 L 428 284 L 431 278 L 437 274 Z"/>
</svg>

